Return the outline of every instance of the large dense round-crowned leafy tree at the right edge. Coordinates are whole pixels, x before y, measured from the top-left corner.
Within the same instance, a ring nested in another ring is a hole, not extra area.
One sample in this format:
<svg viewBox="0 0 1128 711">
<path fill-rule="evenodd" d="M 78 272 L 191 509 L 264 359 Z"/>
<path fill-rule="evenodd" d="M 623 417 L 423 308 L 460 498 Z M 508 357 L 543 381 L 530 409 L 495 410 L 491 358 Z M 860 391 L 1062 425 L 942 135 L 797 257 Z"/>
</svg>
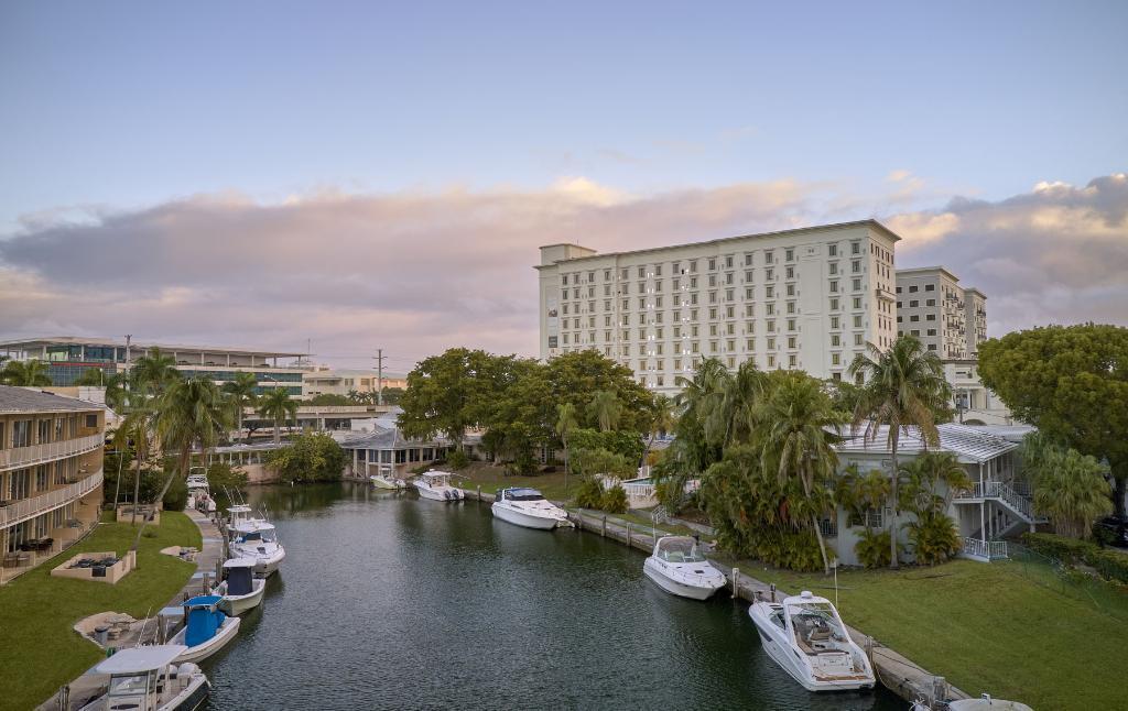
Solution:
<svg viewBox="0 0 1128 711">
<path fill-rule="evenodd" d="M 1128 480 L 1128 328 L 1050 326 L 979 346 L 979 375 L 1020 420 L 1067 447 L 1107 460 L 1113 504 Z"/>
</svg>

